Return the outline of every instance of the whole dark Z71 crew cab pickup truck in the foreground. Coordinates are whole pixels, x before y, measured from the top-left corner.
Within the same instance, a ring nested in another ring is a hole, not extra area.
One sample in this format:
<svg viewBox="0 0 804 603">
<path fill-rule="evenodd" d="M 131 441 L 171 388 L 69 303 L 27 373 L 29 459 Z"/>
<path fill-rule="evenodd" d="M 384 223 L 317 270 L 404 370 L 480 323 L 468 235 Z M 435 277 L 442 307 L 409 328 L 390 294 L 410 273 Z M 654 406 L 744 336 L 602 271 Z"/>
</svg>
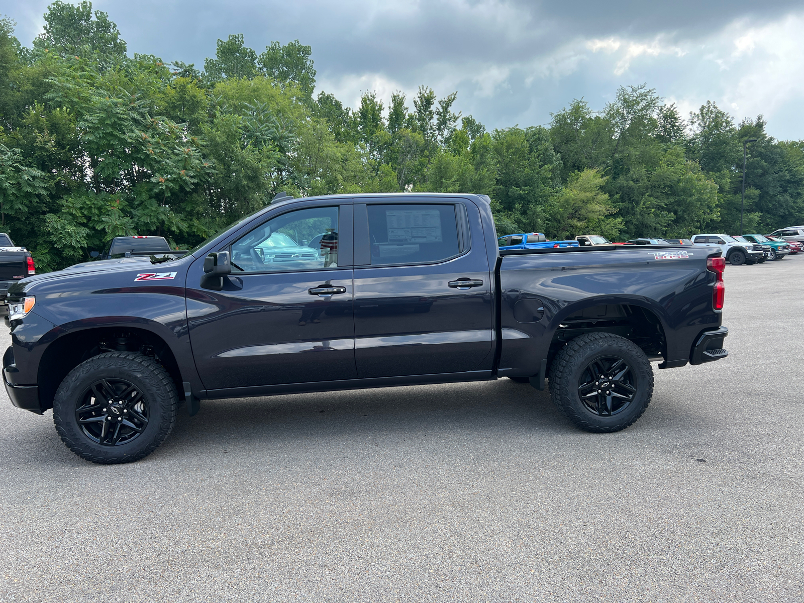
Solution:
<svg viewBox="0 0 804 603">
<path fill-rule="evenodd" d="M 199 401 L 511 377 L 613 432 L 651 362 L 724 358 L 720 248 L 499 251 L 482 195 L 285 197 L 182 258 L 14 284 L 6 390 L 89 461 L 134 461 Z"/>
</svg>

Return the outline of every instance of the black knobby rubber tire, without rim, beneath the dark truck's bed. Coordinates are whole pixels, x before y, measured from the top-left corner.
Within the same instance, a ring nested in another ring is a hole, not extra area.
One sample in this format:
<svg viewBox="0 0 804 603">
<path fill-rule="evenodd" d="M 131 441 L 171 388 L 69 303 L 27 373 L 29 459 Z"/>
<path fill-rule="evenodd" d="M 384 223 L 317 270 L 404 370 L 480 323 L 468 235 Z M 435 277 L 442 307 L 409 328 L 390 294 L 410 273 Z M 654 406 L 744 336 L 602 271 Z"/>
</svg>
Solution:
<svg viewBox="0 0 804 603">
<path fill-rule="evenodd" d="M 611 416 L 595 414 L 580 400 L 580 378 L 590 363 L 601 358 L 621 358 L 636 379 L 634 399 Z M 653 396 L 654 375 L 645 352 L 636 344 L 610 333 L 586 333 L 570 340 L 553 359 L 548 381 L 553 403 L 577 427 L 593 433 L 626 429 L 642 416 Z"/>
</svg>

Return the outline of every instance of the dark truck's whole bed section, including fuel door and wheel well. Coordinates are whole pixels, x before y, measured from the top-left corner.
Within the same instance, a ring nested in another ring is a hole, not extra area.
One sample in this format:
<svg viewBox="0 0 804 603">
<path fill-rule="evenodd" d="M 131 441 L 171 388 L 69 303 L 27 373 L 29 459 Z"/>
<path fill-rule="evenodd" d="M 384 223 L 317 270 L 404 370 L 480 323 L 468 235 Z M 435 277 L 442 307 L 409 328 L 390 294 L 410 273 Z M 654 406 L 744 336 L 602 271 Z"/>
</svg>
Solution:
<svg viewBox="0 0 804 603">
<path fill-rule="evenodd" d="M 527 375 L 589 330 L 630 338 L 659 368 L 683 366 L 712 311 L 719 248 L 605 245 L 500 250 L 498 375 Z M 673 334 L 667 337 L 668 333 Z"/>
</svg>

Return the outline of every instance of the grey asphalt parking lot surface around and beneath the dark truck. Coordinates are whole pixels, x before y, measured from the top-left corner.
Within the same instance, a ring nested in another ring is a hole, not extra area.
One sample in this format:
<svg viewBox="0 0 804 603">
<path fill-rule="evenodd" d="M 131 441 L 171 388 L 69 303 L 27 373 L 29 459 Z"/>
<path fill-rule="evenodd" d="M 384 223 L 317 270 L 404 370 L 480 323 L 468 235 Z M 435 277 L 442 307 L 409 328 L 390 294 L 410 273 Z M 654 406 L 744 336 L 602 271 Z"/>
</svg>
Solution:
<svg viewBox="0 0 804 603">
<path fill-rule="evenodd" d="M 608 435 L 500 379 L 204 402 L 97 466 L 2 392 L 0 601 L 802 601 L 804 257 L 725 280 L 728 359 Z"/>
</svg>

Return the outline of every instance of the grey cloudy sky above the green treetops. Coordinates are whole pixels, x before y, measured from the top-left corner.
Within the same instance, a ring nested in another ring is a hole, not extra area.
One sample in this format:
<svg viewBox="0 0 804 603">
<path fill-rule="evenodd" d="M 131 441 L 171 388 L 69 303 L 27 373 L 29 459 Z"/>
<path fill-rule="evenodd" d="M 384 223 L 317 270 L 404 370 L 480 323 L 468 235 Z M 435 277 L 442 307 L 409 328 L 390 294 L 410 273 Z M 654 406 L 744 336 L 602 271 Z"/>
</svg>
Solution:
<svg viewBox="0 0 804 603">
<path fill-rule="evenodd" d="M 23 43 L 46 1 L 0 8 Z M 203 67 L 215 40 L 242 33 L 313 47 L 318 89 L 351 107 L 419 84 L 457 90 L 457 109 L 487 128 L 546 124 L 583 96 L 602 109 L 617 86 L 646 82 L 686 115 L 714 100 L 737 121 L 763 113 L 769 133 L 804 138 L 804 4 L 788 0 L 96 0 L 129 53 Z"/>
</svg>

